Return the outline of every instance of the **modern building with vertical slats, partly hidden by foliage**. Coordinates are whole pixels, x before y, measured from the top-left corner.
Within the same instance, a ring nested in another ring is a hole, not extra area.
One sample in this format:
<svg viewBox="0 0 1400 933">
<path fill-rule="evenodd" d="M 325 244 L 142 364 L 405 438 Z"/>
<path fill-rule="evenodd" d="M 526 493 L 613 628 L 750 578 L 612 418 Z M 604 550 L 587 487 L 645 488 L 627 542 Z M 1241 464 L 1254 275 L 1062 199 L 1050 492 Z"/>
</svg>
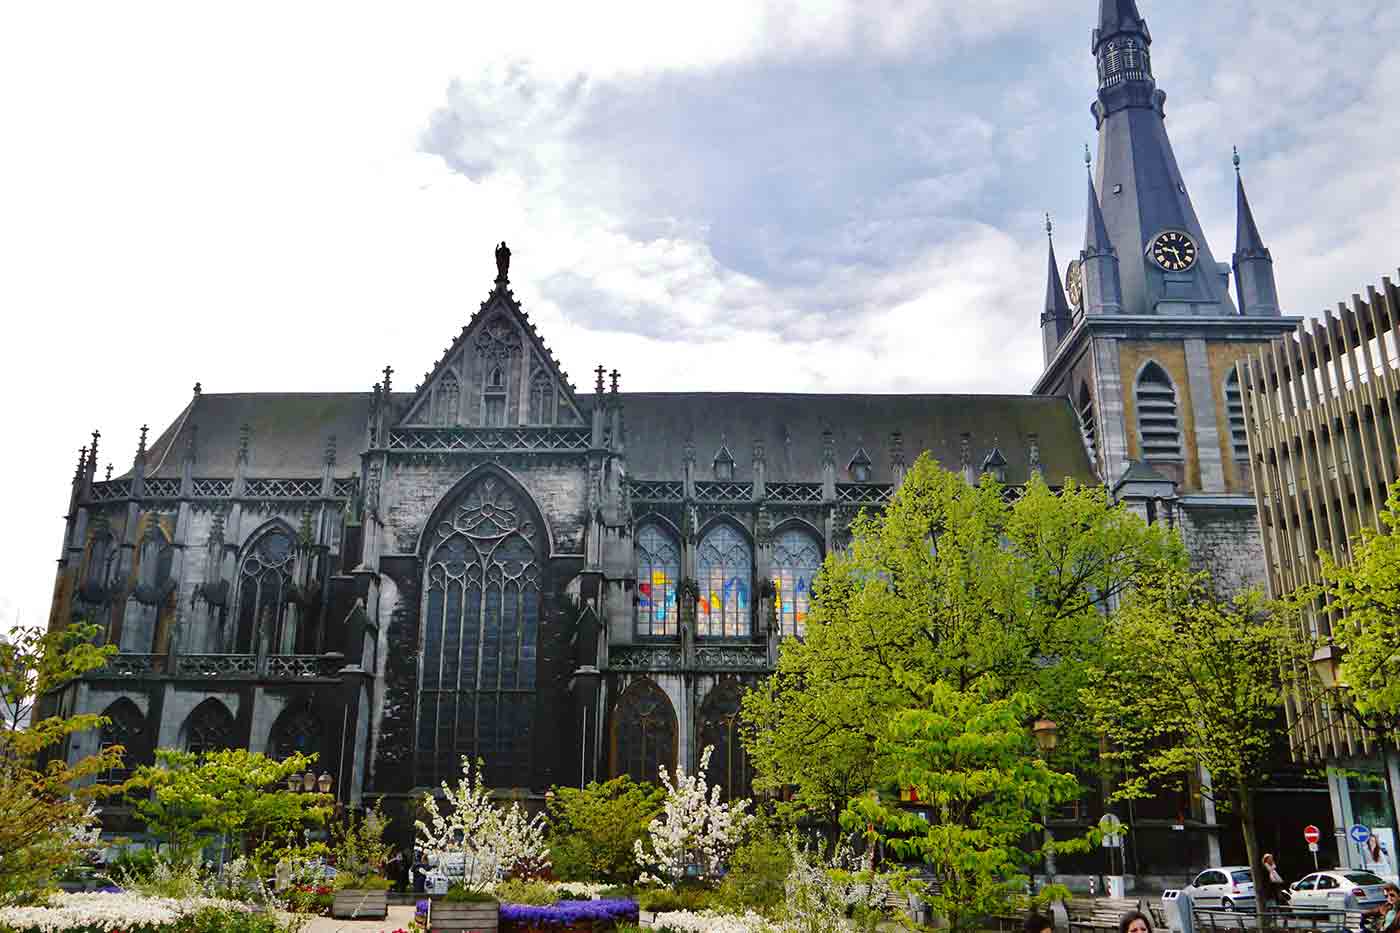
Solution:
<svg viewBox="0 0 1400 933">
<path fill-rule="evenodd" d="M 1345 562 L 1361 530 L 1380 525 L 1400 474 L 1400 289 L 1382 279 L 1365 297 L 1352 294 L 1350 305 L 1252 350 L 1238 363 L 1238 380 L 1268 590 L 1282 597 L 1320 581 L 1320 553 Z M 1320 604 L 1302 636 L 1327 637 L 1333 621 Z M 1348 770 L 1379 766 L 1369 761 L 1368 737 L 1329 702 L 1310 671 L 1298 672 L 1285 710 L 1295 756 Z M 1385 814 L 1394 801 L 1379 790 L 1385 782 L 1372 780 L 1375 789 L 1366 790 L 1355 778 L 1348 787 L 1347 778 L 1333 775 L 1329 783 L 1337 825 L 1393 825 Z"/>
</svg>

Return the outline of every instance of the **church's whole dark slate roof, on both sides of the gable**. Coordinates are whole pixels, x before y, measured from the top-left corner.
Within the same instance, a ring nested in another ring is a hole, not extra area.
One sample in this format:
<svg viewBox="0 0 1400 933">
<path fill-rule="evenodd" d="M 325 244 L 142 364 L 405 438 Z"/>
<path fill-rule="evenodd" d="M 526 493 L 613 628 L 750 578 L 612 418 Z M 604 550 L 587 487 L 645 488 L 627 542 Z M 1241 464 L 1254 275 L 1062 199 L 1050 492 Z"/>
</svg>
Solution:
<svg viewBox="0 0 1400 933">
<path fill-rule="evenodd" d="M 395 392 L 398 410 L 413 398 Z M 746 392 L 623 392 L 627 474 L 679 479 L 687 440 L 696 475 L 713 479 L 721 447 L 734 452 L 734 476 L 753 478 L 753 443 L 762 441 L 769 482 L 820 482 L 822 433 L 832 431 L 837 482 L 861 448 L 871 481 L 890 482 L 890 434 L 903 434 L 904 462 L 928 450 L 949 469 L 959 464 L 962 434 L 970 461 L 993 448 L 1008 459 L 1007 481 L 1030 472 L 1029 436 L 1037 434 L 1046 478 L 1095 482 L 1068 401 L 1039 395 L 797 395 Z M 580 399 L 584 401 L 584 399 Z M 179 476 L 193 427 L 196 476 L 232 476 L 241 424 L 249 431 L 249 476 L 319 476 L 326 438 L 336 436 L 336 475 L 358 471 L 370 415 L 368 392 L 234 394 L 196 396 L 151 444 L 155 476 Z M 584 417 L 588 417 L 584 409 Z"/>
</svg>

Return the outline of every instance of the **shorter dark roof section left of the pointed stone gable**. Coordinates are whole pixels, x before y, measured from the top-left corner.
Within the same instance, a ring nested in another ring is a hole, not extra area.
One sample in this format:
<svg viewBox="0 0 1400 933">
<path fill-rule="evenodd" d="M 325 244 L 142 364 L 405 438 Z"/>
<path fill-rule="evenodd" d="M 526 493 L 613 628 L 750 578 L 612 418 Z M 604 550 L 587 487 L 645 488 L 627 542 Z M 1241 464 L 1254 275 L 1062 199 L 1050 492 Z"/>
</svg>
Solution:
<svg viewBox="0 0 1400 933">
<path fill-rule="evenodd" d="M 335 436 L 336 475 L 350 476 L 360 469 L 370 402 L 368 392 L 196 395 L 150 445 L 150 475 L 179 476 L 193 433 L 195 475 L 232 476 L 239 427 L 248 424 L 246 475 L 319 476 Z"/>
</svg>

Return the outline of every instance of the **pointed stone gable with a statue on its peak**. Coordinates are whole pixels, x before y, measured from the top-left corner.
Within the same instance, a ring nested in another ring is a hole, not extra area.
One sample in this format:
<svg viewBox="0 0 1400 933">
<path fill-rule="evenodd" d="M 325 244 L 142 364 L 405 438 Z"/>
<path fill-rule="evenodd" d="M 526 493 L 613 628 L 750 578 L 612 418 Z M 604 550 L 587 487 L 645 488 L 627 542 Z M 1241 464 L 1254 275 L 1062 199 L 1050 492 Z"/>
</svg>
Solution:
<svg viewBox="0 0 1400 933">
<path fill-rule="evenodd" d="M 584 416 L 568 377 L 503 272 L 480 310 L 417 387 L 399 423 L 511 427 L 582 424 Z"/>
</svg>

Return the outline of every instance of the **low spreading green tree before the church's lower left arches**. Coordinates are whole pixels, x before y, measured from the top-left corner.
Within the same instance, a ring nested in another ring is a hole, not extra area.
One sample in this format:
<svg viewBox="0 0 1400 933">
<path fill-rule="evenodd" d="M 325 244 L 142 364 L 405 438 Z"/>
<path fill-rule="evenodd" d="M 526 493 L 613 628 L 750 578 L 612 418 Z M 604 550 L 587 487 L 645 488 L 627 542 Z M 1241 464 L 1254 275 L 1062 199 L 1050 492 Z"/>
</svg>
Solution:
<svg viewBox="0 0 1400 933">
<path fill-rule="evenodd" d="M 242 748 L 203 755 L 161 748 L 154 765 L 133 775 L 133 803 L 176 860 L 195 857 L 210 835 L 256 849 L 325 821 L 328 794 L 286 786 L 290 775 L 314 762 L 315 755 L 274 761 Z"/>
</svg>

